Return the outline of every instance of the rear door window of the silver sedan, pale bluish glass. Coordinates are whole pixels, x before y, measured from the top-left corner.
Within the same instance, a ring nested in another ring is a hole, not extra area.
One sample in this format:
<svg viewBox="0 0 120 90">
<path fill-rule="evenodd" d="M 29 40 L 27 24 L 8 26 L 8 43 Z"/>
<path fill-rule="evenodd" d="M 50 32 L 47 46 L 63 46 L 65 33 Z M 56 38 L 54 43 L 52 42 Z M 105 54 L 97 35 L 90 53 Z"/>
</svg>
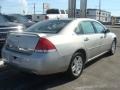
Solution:
<svg viewBox="0 0 120 90">
<path fill-rule="evenodd" d="M 95 30 L 92 26 L 92 23 L 89 21 L 85 21 L 81 23 L 81 27 L 83 29 L 84 34 L 93 34 Z"/>
</svg>

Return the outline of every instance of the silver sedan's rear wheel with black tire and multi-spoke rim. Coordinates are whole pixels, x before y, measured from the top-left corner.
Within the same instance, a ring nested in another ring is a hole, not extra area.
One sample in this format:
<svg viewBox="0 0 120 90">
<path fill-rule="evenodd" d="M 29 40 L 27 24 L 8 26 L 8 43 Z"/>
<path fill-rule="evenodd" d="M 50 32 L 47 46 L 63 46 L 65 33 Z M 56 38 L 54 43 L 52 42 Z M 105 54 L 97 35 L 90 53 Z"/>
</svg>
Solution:
<svg viewBox="0 0 120 90">
<path fill-rule="evenodd" d="M 81 73 L 83 71 L 83 67 L 84 67 L 83 59 L 84 58 L 81 53 L 75 53 L 72 56 L 69 68 L 67 70 L 67 75 L 71 79 L 76 79 L 81 75 Z"/>
</svg>

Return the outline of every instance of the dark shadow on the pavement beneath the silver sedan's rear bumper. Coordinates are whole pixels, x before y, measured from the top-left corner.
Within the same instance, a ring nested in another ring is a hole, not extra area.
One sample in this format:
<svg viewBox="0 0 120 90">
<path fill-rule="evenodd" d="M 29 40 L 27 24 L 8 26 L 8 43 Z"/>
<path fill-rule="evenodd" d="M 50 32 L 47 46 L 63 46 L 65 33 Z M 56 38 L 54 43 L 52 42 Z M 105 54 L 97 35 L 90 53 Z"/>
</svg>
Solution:
<svg viewBox="0 0 120 90">
<path fill-rule="evenodd" d="M 11 68 L 0 70 L 0 90 L 46 90 L 71 81 L 63 73 L 40 76 Z"/>
</svg>

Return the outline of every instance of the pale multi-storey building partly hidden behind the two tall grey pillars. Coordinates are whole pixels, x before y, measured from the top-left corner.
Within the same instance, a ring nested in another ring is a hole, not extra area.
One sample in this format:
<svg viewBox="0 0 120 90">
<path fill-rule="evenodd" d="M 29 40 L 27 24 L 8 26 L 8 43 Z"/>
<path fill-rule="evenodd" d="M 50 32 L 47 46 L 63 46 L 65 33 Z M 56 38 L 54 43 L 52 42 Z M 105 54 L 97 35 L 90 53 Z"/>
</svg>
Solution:
<svg viewBox="0 0 120 90">
<path fill-rule="evenodd" d="M 100 13 L 99 13 L 100 11 Z M 101 22 L 111 22 L 111 13 L 99 9 L 87 9 L 87 18 L 99 20 Z M 76 9 L 76 18 L 80 17 L 80 9 Z"/>
</svg>

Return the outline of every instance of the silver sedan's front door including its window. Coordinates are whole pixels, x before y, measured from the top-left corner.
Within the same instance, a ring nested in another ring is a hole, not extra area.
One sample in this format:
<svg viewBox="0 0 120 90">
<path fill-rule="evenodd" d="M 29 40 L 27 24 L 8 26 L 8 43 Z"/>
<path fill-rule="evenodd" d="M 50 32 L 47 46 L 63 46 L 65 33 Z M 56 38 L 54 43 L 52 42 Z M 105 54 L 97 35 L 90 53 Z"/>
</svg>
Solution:
<svg viewBox="0 0 120 90">
<path fill-rule="evenodd" d="M 99 23 L 99 22 L 92 22 L 93 26 L 95 27 L 96 31 L 97 31 L 97 36 L 99 37 L 100 40 L 100 44 L 98 47 L 98 50 L 100 51 L 100 53 L 103 53 L 105 51 L 107 51 L 109 49 L 109 37 L 107 33 L 105 32 L 105 27 Z"/>
</svg>

